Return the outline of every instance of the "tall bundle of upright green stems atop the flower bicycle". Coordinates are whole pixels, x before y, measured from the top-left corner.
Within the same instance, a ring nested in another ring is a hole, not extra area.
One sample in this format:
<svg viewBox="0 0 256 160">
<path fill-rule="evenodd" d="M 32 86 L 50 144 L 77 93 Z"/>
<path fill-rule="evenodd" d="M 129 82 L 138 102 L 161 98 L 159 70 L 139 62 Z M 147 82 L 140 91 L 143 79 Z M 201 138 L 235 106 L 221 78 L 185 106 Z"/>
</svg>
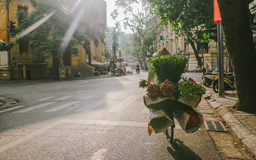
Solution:
<svg viewBox="0 0 256 160">
<path fill-rule="evenodd" d="M 157 76 L 157 83 L 161 84 L 166 79 L 177 84 L 181 79 L 181 74 L 185 73 L 185 68 L 189 58 L 181 55 L 164 55 L 150 58 L 150 68 Z"/>
</svg>

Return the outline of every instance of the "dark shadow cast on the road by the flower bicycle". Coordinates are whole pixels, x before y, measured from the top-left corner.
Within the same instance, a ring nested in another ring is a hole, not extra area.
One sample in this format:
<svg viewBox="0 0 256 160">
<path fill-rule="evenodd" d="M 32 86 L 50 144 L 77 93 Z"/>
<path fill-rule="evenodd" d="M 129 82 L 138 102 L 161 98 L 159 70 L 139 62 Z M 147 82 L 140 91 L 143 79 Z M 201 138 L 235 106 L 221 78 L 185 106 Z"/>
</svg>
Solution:
<svg viewBox="0 0 256 160">
<path fill-rule="evenodd" d="M 168 152 L 175 160 L 184 160 L 184 159 L 201 159 L 197 154 L 193 152 L 189 147 L 183 144 L 183 141 L 179 139 L 174 139 L 172 141 L 172 148 L 167 147 Z"/>
</svg>

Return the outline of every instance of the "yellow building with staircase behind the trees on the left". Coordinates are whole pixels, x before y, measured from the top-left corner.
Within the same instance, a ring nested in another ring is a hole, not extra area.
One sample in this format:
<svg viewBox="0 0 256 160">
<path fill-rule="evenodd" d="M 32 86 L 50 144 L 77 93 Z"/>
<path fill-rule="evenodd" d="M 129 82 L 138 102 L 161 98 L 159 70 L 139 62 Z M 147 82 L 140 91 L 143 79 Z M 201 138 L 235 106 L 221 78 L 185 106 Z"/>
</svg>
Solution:
<svg viewBox="0 0 256 160">
<path fill-rule="evenodd" d="M 86 27 L 88 27 L 88 24 L 90 27 L 93 26 L 93 24 L 97 24 L 99 22 L 106 25 L 106 2 L 103 0 L 82 1 L 82 3 L 85 2 L 88 2 L 86 10 L 93 10 L 94 13 L 97 13 L 90 18 Z M 17 10 L 24 10 L 26 13 L 30 13 L 34 10 L 34 8 L 30 3 L 30 0 L 0 0 L 0 41 L 7 43 L 14 41 L 14 38 L 9 35 L 9 26 L 10 21 L 15 22 L 15 26 L 19 25 L 17 18 L 15 18 Z M 86 27 L 84 26 L 84 28 Z M 90 34 L 89 32 L 84 32 L 86 34 Z M 104 34 L 103 30 L 101 30 L 101 32 Z M 40 54 L 27 52 L 27 50 L 29 50 L 28 43 L 29 42 L 22 42 L 17 44 L 17 46 L 14 45 L 8 51 L 0 52 L 0 81 L 15 79 L 30 80 L 52 78 L 52 58 L 42 60 Z M 90 42 L 91 58 L 88 57 L 88 53 L 86 53 L 86 50 L 82 46 L 77 46 L 77 48 L 80 50 L 79 57 L 75 57 L 71 54 L 69 56 L 63 56 L 64 66 L 83 66 L 91 73 L 93 73 L 93 66 L 95 64 L 98 64 L 99 67 L 104 64 L 104 44 L 100 43 L 98 47 L 95 47 L 93 41 Z M 16 57 L 16 53 L 17 70 L 16 62 L 12 62 L 13 57 Z M 91 59 L 91 66 L 88 65 L 88 59 Z M 59 65 L 61 66 L 61 64 L 62 59 L 60 60 Z M 64 67 L 64 70 L 66 68 L 67 67 Z M 62 74 L 61 70 L 59 71 L 59 74 Z M 16 75 L 18 75 L 18 78 Z"/>
</svg>

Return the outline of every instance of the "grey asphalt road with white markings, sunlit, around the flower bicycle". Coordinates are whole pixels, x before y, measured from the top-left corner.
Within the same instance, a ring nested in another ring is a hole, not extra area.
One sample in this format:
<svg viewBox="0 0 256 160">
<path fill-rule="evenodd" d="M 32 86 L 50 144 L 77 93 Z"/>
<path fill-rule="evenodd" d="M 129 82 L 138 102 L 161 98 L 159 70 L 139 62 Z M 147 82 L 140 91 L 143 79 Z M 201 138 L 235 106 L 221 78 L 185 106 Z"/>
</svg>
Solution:
<svg viewBox="0 0 256 160">
<path fill-rule="evenodd" d="M 222 159 L 203 127 L 186 134 L 177 124 L 173 144 L 148 135 L 146 77 L 0 84 L 19 101 L 0 113 L 0 159 Z"/>
</svg>

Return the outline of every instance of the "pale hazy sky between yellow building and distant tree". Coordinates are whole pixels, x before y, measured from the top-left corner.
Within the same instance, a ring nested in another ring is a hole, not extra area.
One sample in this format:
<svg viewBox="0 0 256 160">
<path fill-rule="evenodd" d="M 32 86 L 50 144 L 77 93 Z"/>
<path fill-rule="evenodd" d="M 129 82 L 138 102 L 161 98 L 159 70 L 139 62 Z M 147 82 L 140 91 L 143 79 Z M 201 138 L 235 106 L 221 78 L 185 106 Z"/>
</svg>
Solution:
<svg viewBox="0 0 256 160">
<path fill-rule="evenodd" d="M 112 17 L 110 16 L 110 14 L 114 9 L 116 9 L 116 6 L 114 5 L 115 0 L 104 0 L 104 1 L 106 1 L 106 3 L 107 3 L 107 25 L 109 27 L 115 27 L 115 21 L 124 19 L 125 15 L 122 15 L 120 13 L 119 16 L 116 18 L 116 20 L 113 20 Z M 130 29 L 124 30 L 122 21 L 120 22 L 120 25 L 121 25 L 121 31 L 126 32 L 126 33 L 132 33 L 132 31 Z"/>
</svg>

